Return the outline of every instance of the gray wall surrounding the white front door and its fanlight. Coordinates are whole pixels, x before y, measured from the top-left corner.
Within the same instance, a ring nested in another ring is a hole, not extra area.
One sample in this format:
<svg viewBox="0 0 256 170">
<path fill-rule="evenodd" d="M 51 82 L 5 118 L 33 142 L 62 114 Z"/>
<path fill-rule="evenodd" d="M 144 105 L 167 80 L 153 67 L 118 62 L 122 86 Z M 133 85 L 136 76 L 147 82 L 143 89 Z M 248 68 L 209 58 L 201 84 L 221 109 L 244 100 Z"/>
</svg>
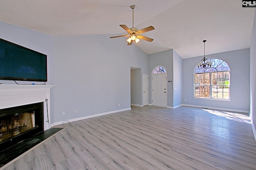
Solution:
<svg viewBox="0 0 256 170">
<path fill-rule="evenodd" d="M 167 106 L 173 107 L 173 50 L 172 49 L 149 55 L 149 71 L 148 71 L 149 104 L 152 104 L 152 70 L 158 65 L 162 65 L 166 68 L 167 81 L 172 80 L 172 82 L 167 83 Z"/>
</svg>

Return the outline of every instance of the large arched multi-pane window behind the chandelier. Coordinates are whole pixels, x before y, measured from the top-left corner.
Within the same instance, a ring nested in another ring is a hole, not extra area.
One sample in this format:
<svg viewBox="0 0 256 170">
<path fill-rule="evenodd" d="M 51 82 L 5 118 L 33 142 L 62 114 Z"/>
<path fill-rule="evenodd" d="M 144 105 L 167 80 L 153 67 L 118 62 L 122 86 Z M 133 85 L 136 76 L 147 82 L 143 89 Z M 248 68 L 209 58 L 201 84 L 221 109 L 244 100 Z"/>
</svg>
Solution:
<svg viewBox="0 0 256 170">
<path fill-rule="evenodd" d="M 208 59 L 212 67 L 194 71 L 194 97 L 230 99 L 230 68 L 221 59 Z"/>
</svg>

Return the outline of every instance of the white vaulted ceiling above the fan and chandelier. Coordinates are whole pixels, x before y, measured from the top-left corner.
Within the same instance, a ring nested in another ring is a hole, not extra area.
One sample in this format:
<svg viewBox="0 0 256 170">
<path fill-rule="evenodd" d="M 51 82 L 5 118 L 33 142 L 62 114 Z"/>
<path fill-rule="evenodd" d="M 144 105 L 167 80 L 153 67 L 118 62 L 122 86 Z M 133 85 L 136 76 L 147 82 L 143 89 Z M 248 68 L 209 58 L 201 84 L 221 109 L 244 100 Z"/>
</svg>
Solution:
<svg viewBox="0 0 256 170">
<path fill-rule="evenodd" d="M 49 35 L 126 34 L 119 25 L 155 30 L 136 45 L 147 54 L 174 49 L 182 59 L 250 47 L 255 8 L 241 0 L 0 0 L 0 21 Z M 126 37 L 120 37 L 126 42 Z M 116 41 L 116 39 L 109 39 Z M 135 45 L 135 44 L 133 44 Z M 130 46 L 127 46 L 129 48 Z"/>
</svg>

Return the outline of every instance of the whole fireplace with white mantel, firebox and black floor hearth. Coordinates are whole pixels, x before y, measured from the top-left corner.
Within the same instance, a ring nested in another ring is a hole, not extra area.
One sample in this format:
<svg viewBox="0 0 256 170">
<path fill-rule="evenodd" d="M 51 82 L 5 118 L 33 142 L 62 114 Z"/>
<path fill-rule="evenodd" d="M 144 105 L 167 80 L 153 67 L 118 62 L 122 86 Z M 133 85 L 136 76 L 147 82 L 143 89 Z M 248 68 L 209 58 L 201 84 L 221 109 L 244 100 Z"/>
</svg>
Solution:
<svg viewBox="0 0 256 170">
<path fill-rule="evenodd" d="M 52 87 L 0 84 L 0 168 L 62 129 L 51 128 Z"/>
</svg>

